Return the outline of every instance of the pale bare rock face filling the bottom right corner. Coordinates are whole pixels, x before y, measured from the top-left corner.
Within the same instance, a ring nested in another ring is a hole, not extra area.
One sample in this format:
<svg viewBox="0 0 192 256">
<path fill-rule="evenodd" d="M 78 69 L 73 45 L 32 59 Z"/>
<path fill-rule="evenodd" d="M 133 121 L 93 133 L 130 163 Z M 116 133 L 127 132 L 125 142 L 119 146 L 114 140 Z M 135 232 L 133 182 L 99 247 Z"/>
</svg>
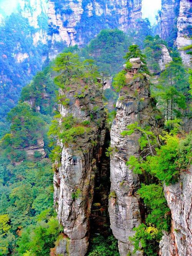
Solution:
<svg viewBox="0 0 192 256">
<path fill-rule="evenodd" d="M 160 242 L 161 256 L 192 255 L 192 168 L 175 185 L 164 186 L 171 210 L 171 231 Z"/>
</svg>

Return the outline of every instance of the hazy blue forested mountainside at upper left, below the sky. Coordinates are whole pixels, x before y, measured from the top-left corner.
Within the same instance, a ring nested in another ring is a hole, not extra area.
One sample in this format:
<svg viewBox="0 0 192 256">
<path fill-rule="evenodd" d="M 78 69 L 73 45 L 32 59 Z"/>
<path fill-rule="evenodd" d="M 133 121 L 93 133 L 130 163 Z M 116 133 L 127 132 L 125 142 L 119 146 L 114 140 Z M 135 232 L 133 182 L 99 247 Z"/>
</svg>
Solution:
<svg viewBox="0 0 192 256">
<path fill-rule="evenodd" d="M 39 17 L 43 17 L 43 13 Z M 44 25 L 41 28 L 45 31 L 47 24 Z M 37 31 L 20 13 L 12 13 L 0 26 L 0 121 L 5 121 L 7 113 L 17 104 L 22 87 L 41 69 L 42 55 L 47 50 L 44 52 L 46 47 L 40 42 L 33 44 Z M 28 56 L 20 61 L 18 53 Z"/>
</svg>

